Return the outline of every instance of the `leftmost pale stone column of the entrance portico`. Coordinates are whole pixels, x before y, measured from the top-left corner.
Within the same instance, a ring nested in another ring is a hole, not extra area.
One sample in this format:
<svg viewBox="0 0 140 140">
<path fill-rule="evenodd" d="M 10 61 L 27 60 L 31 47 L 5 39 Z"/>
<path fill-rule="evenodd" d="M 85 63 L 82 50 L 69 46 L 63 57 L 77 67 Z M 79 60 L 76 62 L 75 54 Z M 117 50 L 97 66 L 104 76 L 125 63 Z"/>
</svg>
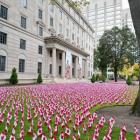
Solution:
<svg viewBox="0 0 140 140">
<path fill-rule="evenodd" d="M 56 77 L 56 48 L 53 48 L 52 52 L 52 76 L 55 78 Z"/>
</svg>

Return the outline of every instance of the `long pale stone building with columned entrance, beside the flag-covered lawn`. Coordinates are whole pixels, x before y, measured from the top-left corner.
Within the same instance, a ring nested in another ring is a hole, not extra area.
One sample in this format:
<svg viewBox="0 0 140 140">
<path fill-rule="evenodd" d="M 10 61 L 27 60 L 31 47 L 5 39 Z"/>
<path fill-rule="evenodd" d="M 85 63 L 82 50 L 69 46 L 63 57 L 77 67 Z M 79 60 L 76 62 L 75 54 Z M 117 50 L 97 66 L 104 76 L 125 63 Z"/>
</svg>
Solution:
<svg viewBox="0 0 140 140">
<path fill-rule="evenodd" d="M 93 34 L 69 0 L 0 0 L 0 82 L 90 77 Z"/>
</svg>

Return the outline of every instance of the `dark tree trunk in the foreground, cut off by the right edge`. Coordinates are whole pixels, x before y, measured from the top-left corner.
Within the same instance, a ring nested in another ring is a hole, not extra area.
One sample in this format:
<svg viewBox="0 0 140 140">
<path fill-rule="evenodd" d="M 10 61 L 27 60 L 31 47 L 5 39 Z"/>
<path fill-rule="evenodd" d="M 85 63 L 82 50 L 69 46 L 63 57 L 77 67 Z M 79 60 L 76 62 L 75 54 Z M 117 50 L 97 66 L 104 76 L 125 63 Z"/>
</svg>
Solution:
<svg viewBox="0 0 140 140">
<path fill-rule="evenodd" d="M 140 66 L 140 0 L 128 0 L 128 1 L 139 45 L 139 66 Z M 139 91 L 135 103 L 132 107 L 132 113 L 137 116 L 140 116 L 140 67 L 139 67 Z"/>
</svg>

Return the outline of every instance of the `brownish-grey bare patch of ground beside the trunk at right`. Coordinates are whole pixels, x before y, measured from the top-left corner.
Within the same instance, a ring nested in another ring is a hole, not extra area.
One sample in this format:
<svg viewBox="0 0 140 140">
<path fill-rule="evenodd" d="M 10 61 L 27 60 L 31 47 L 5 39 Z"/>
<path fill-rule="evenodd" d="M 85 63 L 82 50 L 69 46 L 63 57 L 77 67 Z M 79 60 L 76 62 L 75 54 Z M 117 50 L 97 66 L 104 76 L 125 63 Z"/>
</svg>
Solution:
<svg viewBox="0 0 140 140">
<path fill-rule="evenodd" d="M 135 117 L 129 115 L 131 106 L 116 106 L 116 107 L 107 107 L 97 111 L 99 116 L 104 114 L 106 119 L 109 119 L 111 116 L 115 117 L 115 126 L 121 127 L 123 123 L 126 125 L 127 131 L 134 132 L 134 126 L 140 130 L 140 117 Z"/>
</svg>

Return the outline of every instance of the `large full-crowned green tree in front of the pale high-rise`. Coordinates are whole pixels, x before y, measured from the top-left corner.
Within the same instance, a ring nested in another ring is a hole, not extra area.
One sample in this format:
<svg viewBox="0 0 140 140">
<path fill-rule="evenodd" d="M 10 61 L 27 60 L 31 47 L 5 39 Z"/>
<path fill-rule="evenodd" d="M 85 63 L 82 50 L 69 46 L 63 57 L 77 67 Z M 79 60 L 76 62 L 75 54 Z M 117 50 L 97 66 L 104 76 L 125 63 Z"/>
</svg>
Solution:
<svg viewBox="0 0 140 140">
<path fill-rule="evenodd" d="M 113 27 L 105 31 L 99 40 L 98 59 L 101 71 L 106 71 L 110 65 L 114 69 L 115 82 L 117 82 L 118 71 L 127 62 L 134 63 L 134 48 L 136 46 L 135 35 L 125 26 L 122 29 Z"/>
</svg>

